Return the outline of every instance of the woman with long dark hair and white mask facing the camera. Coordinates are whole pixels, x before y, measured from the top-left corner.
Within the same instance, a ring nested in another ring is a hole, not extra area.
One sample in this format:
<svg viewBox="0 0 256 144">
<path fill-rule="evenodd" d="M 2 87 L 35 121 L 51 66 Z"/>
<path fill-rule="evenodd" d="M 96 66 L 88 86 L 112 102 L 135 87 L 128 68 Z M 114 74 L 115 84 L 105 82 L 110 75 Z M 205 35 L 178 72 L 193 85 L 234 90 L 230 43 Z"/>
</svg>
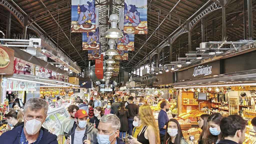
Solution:
<svg viewBox="0 0 256 144">
<path fill-rule="evenodd" d="M 187 144 L 184 140 L 179 122 L 176 119 L 170 119 L 166 124 L 166 128 L 164 144 Z"/>
</svg>

